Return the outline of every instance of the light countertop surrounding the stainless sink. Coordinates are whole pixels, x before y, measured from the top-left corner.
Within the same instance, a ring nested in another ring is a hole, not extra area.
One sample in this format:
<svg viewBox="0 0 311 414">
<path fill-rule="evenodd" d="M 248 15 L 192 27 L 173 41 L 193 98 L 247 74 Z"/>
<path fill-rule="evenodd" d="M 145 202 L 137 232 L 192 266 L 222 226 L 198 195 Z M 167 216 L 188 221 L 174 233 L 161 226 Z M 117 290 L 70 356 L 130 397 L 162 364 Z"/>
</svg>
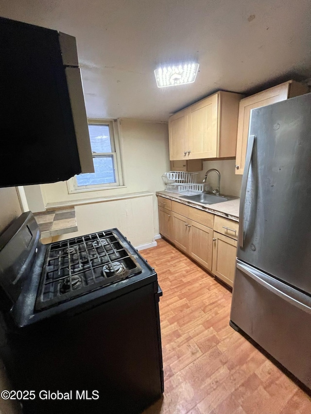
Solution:
<svg viewBox="0 0 311 414">
<path fill-rule="evenodd" d="M 188 199 L 183 199 L 181 194 L 171 193 L 169 191 L 157 191 L 155 193 L 157 196 L 164 197 L 166 199 L 171 199 L 174 201 L 178 201 L 183 204 L 187 204 L 191 207 L 195 207 L 199 210 L 207 211 L 208 213 L 221 215 L 222 217 L 230 218 L 234 221 L 239 221 L 239 206 L 240 206 L 240 199 L 236 198 L 230 201 L 224 201 L 222 203 L 215 203 L 215 204 L 201 204 L 194 201 L 190 201 Z"/>
</svg>

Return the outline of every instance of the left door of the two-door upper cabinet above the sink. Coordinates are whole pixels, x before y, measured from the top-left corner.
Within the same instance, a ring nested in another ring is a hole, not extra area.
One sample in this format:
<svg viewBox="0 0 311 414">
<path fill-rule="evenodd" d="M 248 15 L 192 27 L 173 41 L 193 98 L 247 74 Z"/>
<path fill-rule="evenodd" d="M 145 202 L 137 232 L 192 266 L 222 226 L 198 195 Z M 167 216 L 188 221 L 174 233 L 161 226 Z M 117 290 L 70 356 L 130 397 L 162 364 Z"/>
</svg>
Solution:
<svg viewBox="0 0 311 414">
<path fill-rule="evenodd" d="M 188 110 L 169 118 L 170 160 L 188 159 Z M 186 154 L 185 154 L 186 151 Z"/>
</svg>

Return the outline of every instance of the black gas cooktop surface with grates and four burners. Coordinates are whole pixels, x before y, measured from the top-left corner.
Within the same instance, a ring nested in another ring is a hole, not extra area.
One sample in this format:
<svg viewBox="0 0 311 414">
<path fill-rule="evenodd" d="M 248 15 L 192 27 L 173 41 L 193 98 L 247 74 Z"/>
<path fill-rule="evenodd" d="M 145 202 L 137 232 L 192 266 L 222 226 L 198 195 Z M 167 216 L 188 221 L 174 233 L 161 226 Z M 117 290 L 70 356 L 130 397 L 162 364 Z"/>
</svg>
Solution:
<svg viewBox="0 0 311 414">
<path fill-rule="evenodd" d="M 128 244 L 128 243 L 126 243 Z M 113 229 L 52 243 L 47 250 L 35 310 L 84 295 L 141 273 Z"/>
</svg>

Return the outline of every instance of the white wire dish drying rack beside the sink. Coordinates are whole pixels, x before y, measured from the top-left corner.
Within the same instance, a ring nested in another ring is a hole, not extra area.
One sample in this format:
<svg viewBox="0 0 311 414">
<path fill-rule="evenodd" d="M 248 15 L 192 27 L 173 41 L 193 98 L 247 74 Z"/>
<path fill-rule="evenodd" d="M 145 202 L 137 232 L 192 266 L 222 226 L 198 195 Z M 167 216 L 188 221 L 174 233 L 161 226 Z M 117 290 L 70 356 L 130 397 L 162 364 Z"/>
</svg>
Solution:
<svg viewBox="0 0 311 414">
<path fill-rule="evenodd" d="M 204 184 L 198 184 L 197 172 L 170 171 L 162 175 L 165 191 L 194 196 L 204 192 Z"/>
</svg>

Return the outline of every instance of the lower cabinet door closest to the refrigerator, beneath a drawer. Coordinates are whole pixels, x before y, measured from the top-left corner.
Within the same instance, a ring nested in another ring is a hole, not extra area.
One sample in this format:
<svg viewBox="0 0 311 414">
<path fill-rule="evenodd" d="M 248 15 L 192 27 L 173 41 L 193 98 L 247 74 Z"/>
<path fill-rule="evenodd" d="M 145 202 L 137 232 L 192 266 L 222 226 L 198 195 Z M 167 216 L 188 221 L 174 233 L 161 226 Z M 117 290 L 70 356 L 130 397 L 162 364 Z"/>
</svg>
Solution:
<svg viewBox="0 0 311 414">
<path fill-rule="evenodd" d="M 237 256 L 237 241 L 214 232 L 212 272 L 229 286 L 233 286 Z"/>
</svg>

